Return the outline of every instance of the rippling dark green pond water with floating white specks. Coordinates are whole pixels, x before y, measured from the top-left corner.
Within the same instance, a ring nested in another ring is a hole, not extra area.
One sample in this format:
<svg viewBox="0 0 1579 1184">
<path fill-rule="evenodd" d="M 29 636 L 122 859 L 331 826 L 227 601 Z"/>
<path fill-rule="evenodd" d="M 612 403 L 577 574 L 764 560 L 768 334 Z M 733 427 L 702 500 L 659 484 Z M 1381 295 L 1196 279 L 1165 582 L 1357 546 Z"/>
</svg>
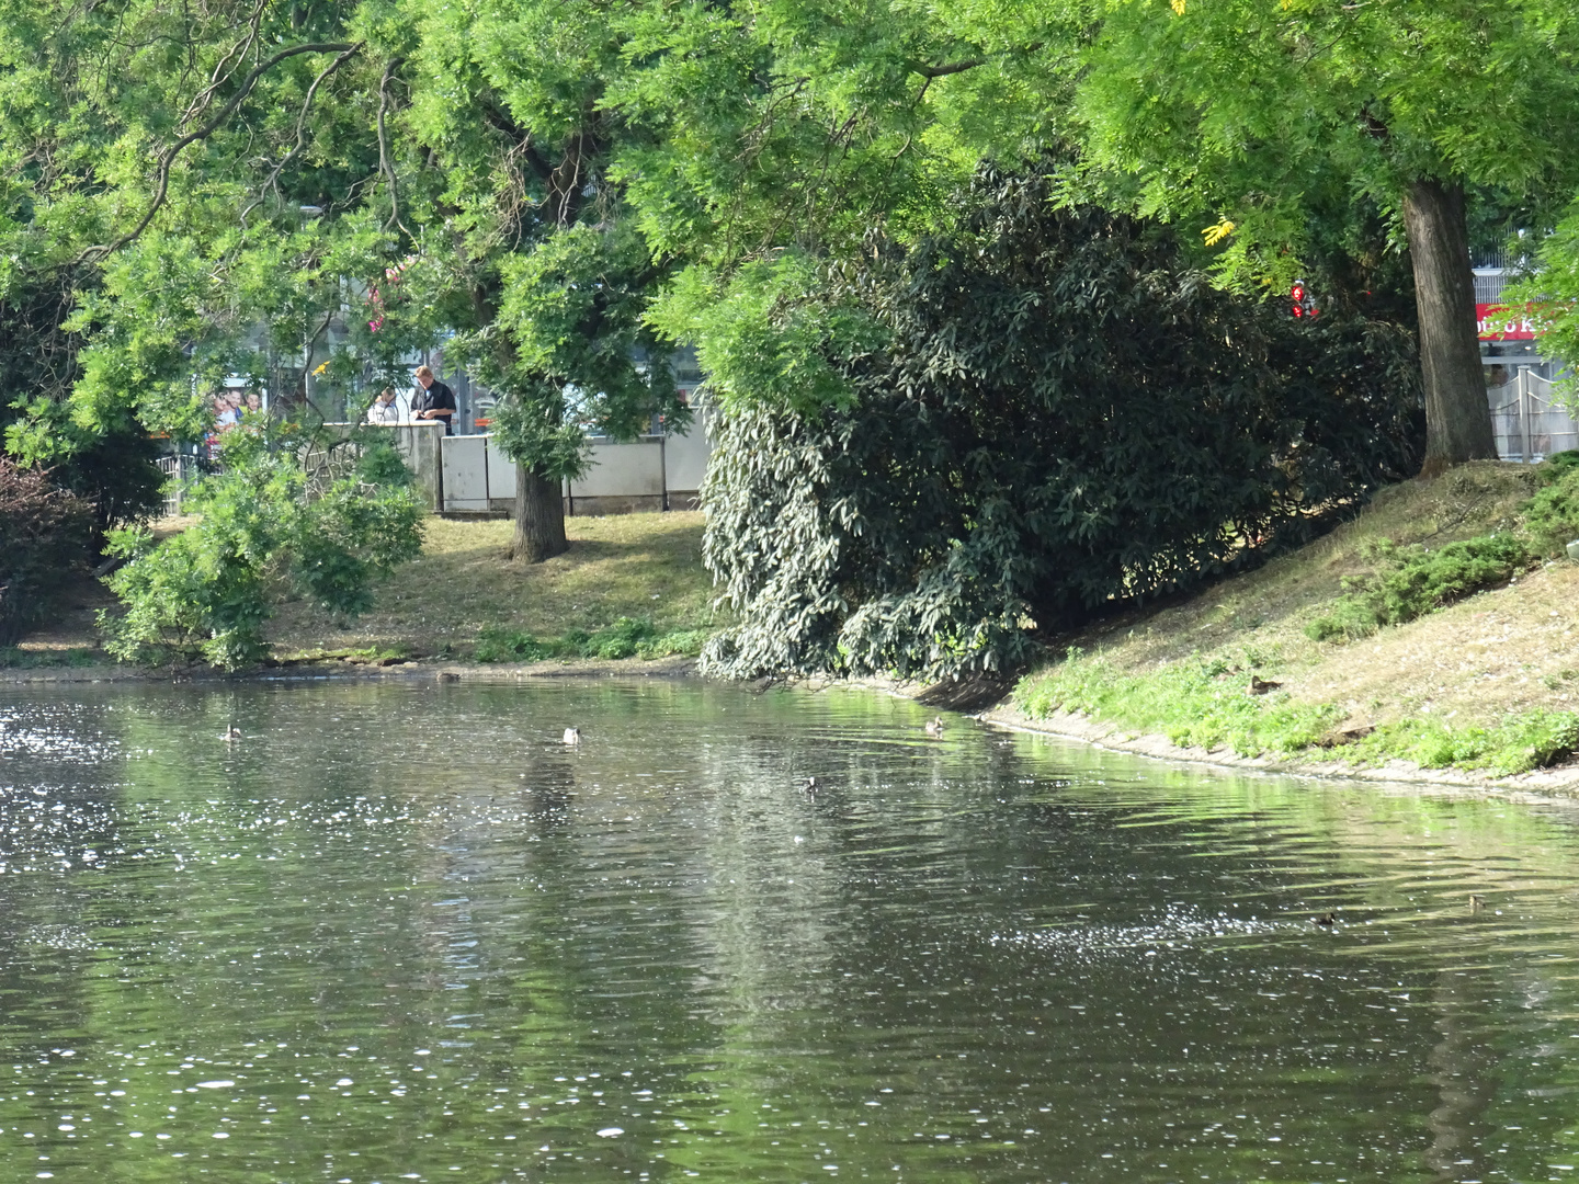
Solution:
<svg viewBox="0 0 1579 1184">
<path fill-rule="evenodd" d="M 0 1179 L 1579 1176 L 1574 808 L 927 715 L 0 693 Z"/>
</svg>

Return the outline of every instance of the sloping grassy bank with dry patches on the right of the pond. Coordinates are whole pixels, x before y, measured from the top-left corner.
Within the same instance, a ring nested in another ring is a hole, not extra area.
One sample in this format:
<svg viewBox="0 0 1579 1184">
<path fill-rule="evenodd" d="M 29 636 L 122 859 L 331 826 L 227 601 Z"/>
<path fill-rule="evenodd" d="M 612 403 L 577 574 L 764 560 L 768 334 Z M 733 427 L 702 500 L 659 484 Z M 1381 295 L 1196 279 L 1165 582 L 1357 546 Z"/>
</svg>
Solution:
<svg viewBox="0 0 1579 1184">
<path fill-rule="evenodd" d="M 1543 478 L 1483 463 L 1386 489 L 1298 553 L 1067 638 L 1014 703 L 1205 753 L 1483 775 L 1565 761 L 1579 748 L 1579 564 L 1530 554 L 1549 549 L 1528 541 Z"/>
</svg>

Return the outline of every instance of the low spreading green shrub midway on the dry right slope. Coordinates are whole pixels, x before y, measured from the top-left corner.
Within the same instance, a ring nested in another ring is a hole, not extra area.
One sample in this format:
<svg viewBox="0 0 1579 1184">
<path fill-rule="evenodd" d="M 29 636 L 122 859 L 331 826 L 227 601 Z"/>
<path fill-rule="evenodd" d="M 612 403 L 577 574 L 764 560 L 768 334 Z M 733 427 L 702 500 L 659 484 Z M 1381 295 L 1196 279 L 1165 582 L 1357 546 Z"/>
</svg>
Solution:
<svg viewBox="0 0 1579 1184">
<path fill-rule="evenodd" d="M 1367 548 L 1378 571 L 1347 579 L 1350 590 L 1331 613 L 1306 627 L 1314 641 L 1355 639 L 1382 625 L 1402 625 L 1454 600 L 1506 584 L 1530 565 L 1530 553 L 1514 534 L 1480 535 L 1429 551 L 1378 540 Z"/>
</svg>

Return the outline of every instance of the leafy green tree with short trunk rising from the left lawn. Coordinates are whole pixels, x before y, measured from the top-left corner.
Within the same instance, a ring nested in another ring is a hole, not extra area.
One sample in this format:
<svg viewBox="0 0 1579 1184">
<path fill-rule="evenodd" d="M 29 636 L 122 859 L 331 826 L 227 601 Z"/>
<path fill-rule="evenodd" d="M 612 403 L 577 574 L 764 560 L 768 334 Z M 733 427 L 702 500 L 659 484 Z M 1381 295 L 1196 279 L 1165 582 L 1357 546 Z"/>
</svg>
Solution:
<svg viewBox="0 0 1579 1184">
<path fill-rule="evenodd" d="M 624 66 L 600 5 L 513 0 L 411 9 L 406 167 L 437 177 L 420 235 L 447 290 L 441 320 L 499 396 L 516 463 L 513 554 L 565 549 L 561 483 L 586 433 L 684 423 L 665 354 L 643 324 L 662 278 L 609 175 L 630 126 L 603 103 Z"/>
</svg>

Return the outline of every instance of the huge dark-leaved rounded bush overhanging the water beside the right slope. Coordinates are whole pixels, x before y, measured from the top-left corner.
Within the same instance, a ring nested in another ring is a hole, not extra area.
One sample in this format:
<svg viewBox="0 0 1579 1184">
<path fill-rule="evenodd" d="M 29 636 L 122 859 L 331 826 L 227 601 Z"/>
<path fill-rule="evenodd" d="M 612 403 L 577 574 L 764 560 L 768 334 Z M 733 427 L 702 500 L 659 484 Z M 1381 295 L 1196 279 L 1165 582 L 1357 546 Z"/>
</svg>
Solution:
<svg viewBox="0 0 1579 1184">
<path fill-rule="evenodd" d="M 848 407 L 718 418 L 709 669 L 941 676 L 1307 537 L 1412 470 L 1412 338 L 1219 292 L 1154 226 L 984 170 L 963 229 L 840 279 Z"/>
</svg>

